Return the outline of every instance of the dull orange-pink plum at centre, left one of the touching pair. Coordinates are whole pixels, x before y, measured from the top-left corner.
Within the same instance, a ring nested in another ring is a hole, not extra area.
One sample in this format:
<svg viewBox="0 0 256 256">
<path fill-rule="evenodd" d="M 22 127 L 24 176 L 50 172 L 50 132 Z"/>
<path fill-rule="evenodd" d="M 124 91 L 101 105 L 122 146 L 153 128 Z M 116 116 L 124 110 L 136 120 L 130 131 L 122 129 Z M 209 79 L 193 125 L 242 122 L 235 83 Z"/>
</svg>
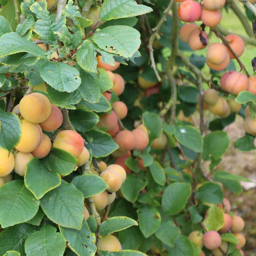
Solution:
<svg viewBox="0 0 256 256">
<path fill-rule="evenodd" d="M 129 130 L 118 132 L 114 141 L 119 146 L 120 151 L 129 151 L 135 146 L 135 136 Z"/>
</svg>

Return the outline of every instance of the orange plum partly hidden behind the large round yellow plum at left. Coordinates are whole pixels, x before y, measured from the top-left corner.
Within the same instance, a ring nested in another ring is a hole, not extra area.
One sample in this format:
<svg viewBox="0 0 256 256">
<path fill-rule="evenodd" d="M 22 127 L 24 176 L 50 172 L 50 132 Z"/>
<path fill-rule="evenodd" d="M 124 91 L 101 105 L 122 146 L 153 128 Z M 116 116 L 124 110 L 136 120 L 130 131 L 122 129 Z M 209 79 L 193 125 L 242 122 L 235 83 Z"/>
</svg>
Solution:
<svg viewBox="0 0 256 256">
<path fill-rule="evenodd" d="M 51 104 L 51 114 L 49 117 L 40 123 L 42 130 L 45 132 L 53 132 L 58 129 L 63 123 L 63 114 L 60 111 L 60 108 L 56 107 L 54 104 Z"/>
</svg>

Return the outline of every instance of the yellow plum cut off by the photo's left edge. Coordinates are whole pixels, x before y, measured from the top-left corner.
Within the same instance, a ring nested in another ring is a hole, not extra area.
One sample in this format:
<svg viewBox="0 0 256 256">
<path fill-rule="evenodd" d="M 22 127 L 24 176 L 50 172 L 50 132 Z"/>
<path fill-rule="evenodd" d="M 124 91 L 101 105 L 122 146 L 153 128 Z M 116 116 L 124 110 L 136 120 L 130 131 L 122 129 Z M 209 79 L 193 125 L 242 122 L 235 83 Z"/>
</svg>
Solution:
<svg viewBox="0 0 256 256">
<path fill-rule="evenodd" d="M 7 176 L 14 168 L 14 156 L 13 153 L 9 154 L 9 151 L 0 147 L 0 177 Z"/>
</svg>

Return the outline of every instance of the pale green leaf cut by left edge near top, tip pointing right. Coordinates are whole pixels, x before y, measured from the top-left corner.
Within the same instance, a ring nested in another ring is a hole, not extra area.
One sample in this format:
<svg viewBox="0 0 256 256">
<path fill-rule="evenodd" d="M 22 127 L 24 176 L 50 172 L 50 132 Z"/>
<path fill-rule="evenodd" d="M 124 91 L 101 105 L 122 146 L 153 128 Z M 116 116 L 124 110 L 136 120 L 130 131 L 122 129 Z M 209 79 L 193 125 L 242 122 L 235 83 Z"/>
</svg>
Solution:
<svg viewBox="0 0 256 256">
<path fill-rule="evenodd" d="M 17 33 L 11 32 L 2 35 L 0 38 L 0 58 L 17 54 L 17 52 L 29 52 L 38 57 L 46 58 L 43 49 L 26 38 L 21 38 Z"/>
</svg>

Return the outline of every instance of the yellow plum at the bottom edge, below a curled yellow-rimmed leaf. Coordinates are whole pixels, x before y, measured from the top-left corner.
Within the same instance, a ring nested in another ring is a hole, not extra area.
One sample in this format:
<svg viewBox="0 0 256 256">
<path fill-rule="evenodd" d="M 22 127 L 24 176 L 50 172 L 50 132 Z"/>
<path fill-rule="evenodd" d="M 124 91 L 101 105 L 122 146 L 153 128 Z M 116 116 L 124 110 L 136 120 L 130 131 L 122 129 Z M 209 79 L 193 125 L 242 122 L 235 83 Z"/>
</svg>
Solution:
<svg viewBox="0 0 256 256">
<path fill-rule="evenodd" d="M 122 246 L 118 239 L 113 235 L 107 235 L 99 238 L 97 243 L 97 252 L 101 255 L 101 251 L 118 252 L 121 251 Z"/>
</svg>

